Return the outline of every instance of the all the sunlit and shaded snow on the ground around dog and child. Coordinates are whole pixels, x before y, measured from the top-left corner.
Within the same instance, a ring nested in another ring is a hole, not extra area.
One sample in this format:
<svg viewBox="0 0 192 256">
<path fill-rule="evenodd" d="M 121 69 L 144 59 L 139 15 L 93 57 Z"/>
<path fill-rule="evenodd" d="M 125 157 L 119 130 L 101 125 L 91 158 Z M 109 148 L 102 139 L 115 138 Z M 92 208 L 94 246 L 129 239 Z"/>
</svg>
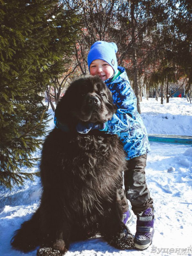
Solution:
<svg viewBox="0 0 192 256">
<path fill-rule="evenodd" d="M 160 99 L 159 102 L 143 99 L 141 110 L 148 133 L 192 136 L 192 104 L 186 99 L 172 98 L 164 105 L 160 105 Z M 53 125 L 52 120 L 50 127 Z M 40 156 L 40 150 L 34 155 Z M 173 172 L 167 171 L 170 167 L 173 167 Z M 37 170 L 38 165 L 29 171 Z M 101 238 L 92 238 L 71 244 L 66 256 L 191 255 L 192 145 L 151 143 L 146 179 L 155 207 L 155 234 L 147 250 L 119 251 Z M 36 177 L 35 182 L 27 180 L 24 186 L 15 186 L 11 191 L 0 188 L 0 255 L 35 256 L 36 251 L 22 253 L 12 250 L 10 240 L 13 232 L 39 205 L 39 178 Z M 136 217 L 130 230 L 135 233 Z"/>
</svg>

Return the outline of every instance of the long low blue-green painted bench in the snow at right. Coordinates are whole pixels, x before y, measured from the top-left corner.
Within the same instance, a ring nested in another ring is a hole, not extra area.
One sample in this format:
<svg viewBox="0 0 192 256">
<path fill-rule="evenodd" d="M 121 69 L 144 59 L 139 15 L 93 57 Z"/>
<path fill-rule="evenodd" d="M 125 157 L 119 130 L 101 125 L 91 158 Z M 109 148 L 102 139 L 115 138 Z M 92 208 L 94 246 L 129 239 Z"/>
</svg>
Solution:
<svg viewBox="0 0 192 256">
<path fill-rule="evenodd" d="M 148 133 L 148 139 L 154 142 L 192 145 L 192 136 Z"/>
</svg>

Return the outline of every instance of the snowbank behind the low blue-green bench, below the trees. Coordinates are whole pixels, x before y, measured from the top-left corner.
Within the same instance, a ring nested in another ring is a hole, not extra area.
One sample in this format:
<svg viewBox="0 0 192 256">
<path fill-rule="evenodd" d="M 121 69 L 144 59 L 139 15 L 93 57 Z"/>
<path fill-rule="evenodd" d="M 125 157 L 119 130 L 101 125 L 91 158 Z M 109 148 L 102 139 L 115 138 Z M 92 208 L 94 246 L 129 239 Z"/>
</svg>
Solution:
<svg viewBox="0 0 192 256">
<path fill-rule="evenodd" d="M 141 116 L 148 133 L 192 136 L 192 104 L 185 98 L 171 98 L 160 104 L 149 98 L 141 102 Z"/>
</svg>

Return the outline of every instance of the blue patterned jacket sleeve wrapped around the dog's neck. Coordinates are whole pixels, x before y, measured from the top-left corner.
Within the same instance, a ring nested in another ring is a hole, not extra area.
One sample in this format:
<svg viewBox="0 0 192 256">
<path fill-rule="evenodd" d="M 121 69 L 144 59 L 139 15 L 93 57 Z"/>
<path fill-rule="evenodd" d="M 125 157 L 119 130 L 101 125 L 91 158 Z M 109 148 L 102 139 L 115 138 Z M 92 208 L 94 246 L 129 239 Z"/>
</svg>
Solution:
<svg viewBox="0 0 192 256">
<path fill-rule="evenodd" d="M 112 91 L 114 103 L 117 106 L 116 113 L 111 120 L 105 122 L 106 133 L 116 134 L 132 128 L 137 118 L 137 99 L 129 81 L 123 81 L 117 85 L 115 92 Z"/>
</svg>

